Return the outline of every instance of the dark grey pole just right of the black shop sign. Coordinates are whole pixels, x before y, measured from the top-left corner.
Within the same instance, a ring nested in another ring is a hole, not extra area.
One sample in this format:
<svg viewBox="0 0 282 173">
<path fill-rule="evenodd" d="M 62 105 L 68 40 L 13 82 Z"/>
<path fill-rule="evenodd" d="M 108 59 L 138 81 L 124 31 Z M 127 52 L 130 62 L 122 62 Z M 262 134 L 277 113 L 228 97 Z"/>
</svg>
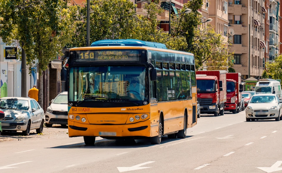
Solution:
<svg viewBox="0 0 282 173">
<path fill-rule="evenodd" d="M 26 52 L 24 42 L 21 43 L 21 97 L 26 97 Z"/>
</svg>

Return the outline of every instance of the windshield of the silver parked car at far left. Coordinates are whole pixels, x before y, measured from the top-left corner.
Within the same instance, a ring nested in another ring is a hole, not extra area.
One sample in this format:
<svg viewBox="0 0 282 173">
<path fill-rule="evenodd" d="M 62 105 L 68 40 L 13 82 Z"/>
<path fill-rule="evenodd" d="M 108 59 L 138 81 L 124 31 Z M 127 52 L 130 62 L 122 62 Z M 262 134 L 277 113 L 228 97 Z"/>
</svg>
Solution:
<svg viewBox="0 0 282 173">
<path fill-rule="evenodd" d="M 0 99 L 0 108 L 19 109 L 27 111 L 29 109 L 28 100 Z"/>
</svg>

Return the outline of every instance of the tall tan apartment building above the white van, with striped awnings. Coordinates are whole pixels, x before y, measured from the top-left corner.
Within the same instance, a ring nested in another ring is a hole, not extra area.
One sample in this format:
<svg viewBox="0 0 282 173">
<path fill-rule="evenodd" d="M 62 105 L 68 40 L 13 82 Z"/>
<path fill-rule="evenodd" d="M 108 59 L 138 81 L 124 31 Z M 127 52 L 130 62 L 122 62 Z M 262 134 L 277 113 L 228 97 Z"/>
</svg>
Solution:
<svg viewBox="0 0 282 173">
<path fill-rule="evenodd" d="M 234 29 L 229 48 L 230 52 L 234 52 L 233 68 L 242 74 L 243 79 L 259 78 L 264 69 L 266 43 L 263 13 L 266 13 L 264 0 L 228 2 L 229 28 Z"/>
</svg>

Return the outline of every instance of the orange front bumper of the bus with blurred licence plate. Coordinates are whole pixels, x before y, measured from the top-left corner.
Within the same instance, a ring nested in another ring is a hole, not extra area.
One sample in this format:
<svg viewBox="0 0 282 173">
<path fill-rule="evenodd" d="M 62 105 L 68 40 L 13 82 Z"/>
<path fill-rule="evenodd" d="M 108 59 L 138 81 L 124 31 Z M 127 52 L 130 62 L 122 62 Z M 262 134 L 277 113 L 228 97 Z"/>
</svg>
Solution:
<svg viewBox="0 0 282 173">
<path fill-rule="evenodd" d="M 147 119 L 134 124 L 82 124 L 68 119 L 68 136 L 100 136 L 100 137 L 150 137 L 151 120 Z"/>
</svg>

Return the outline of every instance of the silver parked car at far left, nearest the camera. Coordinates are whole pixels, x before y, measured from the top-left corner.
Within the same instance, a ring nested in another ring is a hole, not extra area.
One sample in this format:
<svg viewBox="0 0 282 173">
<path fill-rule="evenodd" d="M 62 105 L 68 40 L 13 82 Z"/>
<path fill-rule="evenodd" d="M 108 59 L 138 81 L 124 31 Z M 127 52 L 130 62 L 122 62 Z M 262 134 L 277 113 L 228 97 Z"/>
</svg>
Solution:
<svg viewBox="0 0 282 173">
<path fill-rule="evenodd" d="M 43 132 L 44 111 L 36 100 L 25 97 L 2 97 L 0 109 L 5 113 L 1 120 L 4 131 L 23 131 L 24 136 L 36 129 Z"/>
</svg>

